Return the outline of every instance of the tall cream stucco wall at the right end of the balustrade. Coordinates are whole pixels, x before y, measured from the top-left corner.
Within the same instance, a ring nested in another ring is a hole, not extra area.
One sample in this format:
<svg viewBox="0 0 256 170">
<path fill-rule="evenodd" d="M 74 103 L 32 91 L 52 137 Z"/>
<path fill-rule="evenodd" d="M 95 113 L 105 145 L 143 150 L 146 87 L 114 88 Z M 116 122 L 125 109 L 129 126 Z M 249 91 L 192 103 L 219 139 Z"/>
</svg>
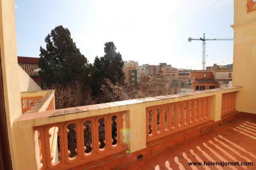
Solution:
<svg viewBox="0 0 256 170">
<path fill-rule="evenodd" d="M 234 0 L 233 86 L 238 111 L 256 113 L 256 11 L 247 13 L 247 0 Z"/>
</svg>

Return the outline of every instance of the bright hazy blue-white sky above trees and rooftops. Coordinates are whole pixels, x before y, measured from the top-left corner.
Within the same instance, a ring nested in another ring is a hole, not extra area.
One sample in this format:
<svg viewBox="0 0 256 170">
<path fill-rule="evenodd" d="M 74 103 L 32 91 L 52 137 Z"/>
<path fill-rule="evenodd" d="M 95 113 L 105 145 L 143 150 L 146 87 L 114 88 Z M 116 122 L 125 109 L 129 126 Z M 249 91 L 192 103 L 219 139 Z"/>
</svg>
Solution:
<svg viewBox="0 0 256 170">
<path fill-rule="evenodd" d="M 15 15 L 17 54 L 27 57 L 58 25 L 91 63 L 113 41 L 123 60 L 201 69 L 202 42 L 188 37 L 233 37 L 233 0 L 15 0 Z M 206 46 L 207 66 L 233 62 L 233 41 Z"/>
</svg>

